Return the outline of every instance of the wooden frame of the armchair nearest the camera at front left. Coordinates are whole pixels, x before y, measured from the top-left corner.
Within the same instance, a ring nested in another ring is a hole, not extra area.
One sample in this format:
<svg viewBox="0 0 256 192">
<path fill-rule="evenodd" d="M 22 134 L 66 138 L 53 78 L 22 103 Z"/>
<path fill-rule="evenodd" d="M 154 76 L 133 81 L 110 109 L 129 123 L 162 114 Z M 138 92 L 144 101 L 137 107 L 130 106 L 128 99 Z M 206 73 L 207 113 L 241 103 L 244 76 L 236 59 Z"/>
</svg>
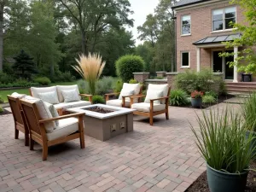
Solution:
<svg viewBox="0 0 256 192">
<path fill-rule="evenodd" d="M 39 143 L 43 147 L 43 160 L 47 160 L 48 156 L 48 147 L 59 144 L 65 143 L 67 141 L 73 139 L 80 139 L 80 147 L 84 148 L 84 123 L 83 123 L 83 116 L 84 113 L 74 113 L 59 116 L 56 118 L 51 119 L 41 119 L 38 113 L 38 108 L 35 103 L 26 102 L 25 100 L 20 100 L 21 108 L 24 112 L 24 116 L 26 118 L 26 125 L 28 127 L 30 133 L 30 149 L 33 150 L 34 142 Z M 54 140 L 48 141 L 44 124 L 49 123 L 58 119 L 67 119 L 67 118 L 78 118 L 79 119 L 79 131 L 74 132 L 73 134 L 66 136 L 66 137 L 59 137 Z"/>
</svg>

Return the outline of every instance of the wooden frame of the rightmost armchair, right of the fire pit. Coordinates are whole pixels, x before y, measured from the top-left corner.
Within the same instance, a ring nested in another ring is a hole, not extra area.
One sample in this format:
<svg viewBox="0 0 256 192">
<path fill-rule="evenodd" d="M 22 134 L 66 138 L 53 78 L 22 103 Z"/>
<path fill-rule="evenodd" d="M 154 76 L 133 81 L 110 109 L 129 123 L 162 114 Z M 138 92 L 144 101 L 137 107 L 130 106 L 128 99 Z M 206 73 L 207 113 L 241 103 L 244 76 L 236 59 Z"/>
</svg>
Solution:
<svg viewBox="0 0 256 192">
<path fill-rule="evenodd" d="M 157 98 L 157 99 L 151 99 L 151 100 L 150 100 L 150 111 L 149 111 L 149 112 L 134 111 L 133 113 L 134 113 L 134 114 L 137 114 L 137 115 L 141 115 L 141 116 L 148 117 L 148 118 L 149 118 L 149 124 L 150 124 L 150 125 L 153 125 L 153 118 L 154 118 L 154 116 L 159 115 L 159 114 L 162 114 L 162 113 L 166 113 L 166 119 L 169 119 L 169 110 L 168 110 L 168 107 L 169 107 L 170 91 L 171 91 L 171 87 L 169 87 L 169 89 L 168 89 L 167 96 L 163 96 L 163 97 L 160 97 L 160 98 Z M 131 97 L 130 97 L 130 99 L 131 99 L 131 105 L 133 104 L 133 101 L 134 101 L 135 98 L 143 98 L 143 97 L 145 97 L 145 96 L 146 96 L 146 95 L 131 96 Z M 161 111 L 156 111 L 156 112 L 154 112 L 154 101 L 163 100 L 163 99 L 166 100 L 166 108 L 165 108 L 165 110 L 161 110 Z"/>
</svg>

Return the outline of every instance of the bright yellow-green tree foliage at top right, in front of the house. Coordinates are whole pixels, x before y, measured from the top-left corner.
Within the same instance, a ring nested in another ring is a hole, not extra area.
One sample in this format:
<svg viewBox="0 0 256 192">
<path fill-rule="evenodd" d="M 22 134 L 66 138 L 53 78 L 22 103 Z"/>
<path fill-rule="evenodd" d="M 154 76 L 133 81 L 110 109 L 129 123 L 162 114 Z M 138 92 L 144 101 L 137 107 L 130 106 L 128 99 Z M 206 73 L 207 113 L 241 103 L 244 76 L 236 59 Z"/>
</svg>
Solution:
<svg viewBox="0 0 256 192">
<path fill-rule="evenodd" d="M 227 48 L 233 48 L 234 46 L 247 46 L 246 49 L 242 49 L 238 52 L 236 61 L 230 62 L 230 67 L 237 66 L 239 72 L 244 73 L 256 73 L 256 51 L 253 49 L 256 46 L 256 0 L 232 0 L 230 3 L 236 3 L 244 9 L 244 15 L 246 17 L 247 24 L 232 24 L 236 27 L 236 32 L 241 32 L 241 38 L 234 39 L 233 42 L 227 42 Z M 222 56 L 230 56 L 234 53 L 224 53 Z"/>
</svg>

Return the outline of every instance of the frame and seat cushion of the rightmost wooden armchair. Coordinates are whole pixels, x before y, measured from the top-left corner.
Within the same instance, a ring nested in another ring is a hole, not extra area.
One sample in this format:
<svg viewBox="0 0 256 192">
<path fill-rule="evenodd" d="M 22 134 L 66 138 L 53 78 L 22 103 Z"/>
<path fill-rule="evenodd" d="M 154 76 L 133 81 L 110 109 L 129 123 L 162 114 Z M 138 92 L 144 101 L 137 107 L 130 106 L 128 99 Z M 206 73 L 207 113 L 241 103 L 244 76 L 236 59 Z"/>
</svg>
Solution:
<svg viewBox="0 0 256 192">
<path fill-rule="evenodd" d="M 169 96 L 170 96 L 170 90 L 171 88 L 168 87 L 168 92 L 166 96 L 161 96 L 159 98 L 150 99 L 149 103 L 146 102 L 139 102 L 139 103 L 133 103 L 134 99 L 143 98 L 146 95 L 142 96 L 131 96 L 131 108 L 137 109 L 137 111 L 134 111 L 134 114 L 142 115 L 149 118 L 149 124 L 153 125 L 153 118 L 156 115 L 159 115 L 161 113 L 166 113 L 166 119 L 169 119 L 169 110 L 168 110 L 168 104 L 169 104 Z M 160 101 L 160 104 L 154 103 L 155 101 Z M 162 102 L 165 101 L 165 102 Z"/>
</svg>

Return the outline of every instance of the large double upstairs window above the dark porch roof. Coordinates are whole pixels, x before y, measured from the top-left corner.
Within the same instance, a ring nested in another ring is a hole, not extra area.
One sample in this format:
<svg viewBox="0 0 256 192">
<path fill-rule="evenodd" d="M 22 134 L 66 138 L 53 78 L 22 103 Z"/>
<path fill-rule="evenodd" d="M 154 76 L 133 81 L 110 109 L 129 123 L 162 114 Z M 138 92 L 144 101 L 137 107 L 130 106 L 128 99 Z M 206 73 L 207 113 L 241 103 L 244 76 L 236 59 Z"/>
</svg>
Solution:
<svg viewBox="0 0 256 192">
<path fill-rule="evenodd" d="M 212 11 L 212 31 L 232 29 L 230 22 L 236 23 L 236 7 Z"/>
</svg>

